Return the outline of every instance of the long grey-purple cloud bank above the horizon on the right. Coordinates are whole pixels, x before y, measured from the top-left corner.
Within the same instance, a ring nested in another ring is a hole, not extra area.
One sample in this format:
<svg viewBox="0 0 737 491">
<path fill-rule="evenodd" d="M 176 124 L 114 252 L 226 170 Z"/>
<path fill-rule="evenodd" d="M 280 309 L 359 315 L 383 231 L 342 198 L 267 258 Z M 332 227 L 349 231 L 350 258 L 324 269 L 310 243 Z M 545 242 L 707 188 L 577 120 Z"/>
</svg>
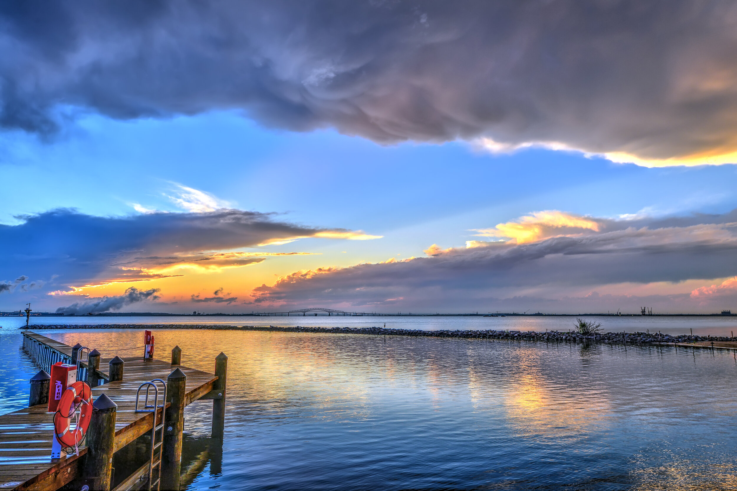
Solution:
<svg viewBox="0 0 737 491">
<path fill-rule="evenodd" d="M 298 271 L 256 288 L 256 302 L 453 307 L 514 296 L 560 299 L 566 291 L 621 283 L 737 275 L 735 212 L 663 220 L 598 220 L 601 231 L 531 243 L 487 242 L 429 250 L 402 262 Z M 597 219 L 590 219 L 597 220 Z M 534 226 L 534 224 L 531 224 Z M 694 302 L 737 292 L 737 282 L 694 290 Z"/>
</svg>

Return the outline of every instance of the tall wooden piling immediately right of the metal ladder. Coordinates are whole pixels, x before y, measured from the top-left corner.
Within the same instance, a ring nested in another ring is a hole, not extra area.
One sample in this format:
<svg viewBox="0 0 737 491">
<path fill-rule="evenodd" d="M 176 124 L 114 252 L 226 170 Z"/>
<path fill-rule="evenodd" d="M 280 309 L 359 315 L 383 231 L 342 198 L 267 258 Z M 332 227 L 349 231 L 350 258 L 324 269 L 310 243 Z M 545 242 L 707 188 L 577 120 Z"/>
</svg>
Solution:
<svg viewBox="0 0 737 491">
<path fill-rule="evenodd" d="M 182 431 L 184 430 L 184 397 L 186 375 L 175 369 L 167 377 L 167 419 L 164 428 L 164 455 L 161 462 L 161 489 L 178 490 L 182 460 Z"/>
</svg>

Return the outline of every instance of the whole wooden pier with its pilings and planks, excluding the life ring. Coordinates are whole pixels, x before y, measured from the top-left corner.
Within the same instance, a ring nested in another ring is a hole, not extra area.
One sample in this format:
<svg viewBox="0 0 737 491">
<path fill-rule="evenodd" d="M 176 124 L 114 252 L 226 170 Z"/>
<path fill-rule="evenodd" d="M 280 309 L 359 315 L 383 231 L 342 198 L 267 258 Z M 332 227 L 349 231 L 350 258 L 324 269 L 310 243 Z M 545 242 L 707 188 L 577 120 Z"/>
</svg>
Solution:
<svg viewBox="0 0 737 491">
<path fill-rule="evenodd" d="M 56 361 L 77 361 L 77 347 L 35 332 L 27 331 L 23 335 L 24 349 L 41 369 L 48 370 Z M 47 398 L 43 403 L 31 400 L 36 404 L 0 416 L 0 490 L 55 491 L 70 483 L 77 489 L 87 485 L 90 490 L 110 490 L 113 453 L 123 450 L 153 428 L 154 413 L 136 412 L 135 405 L 139 386 L 156 378 L 167 381 L 168 393 L 162 442 L 164 456 L 159 464 L 161 490 L 179 487 L 186 405 L 196 400 L 214 400 L 212 433 L 222 438 L 227 367 L 227 357 L 223 353 L 216 358 L 216 373 L 212 374 L 181 366 L 181 349 L 178 347 L 172 350 L 171 363 L 144 360 L 143 357 L 100 359 L 99 353 L 95 355 L 96 351 L 90 353 L 88 361 L 80 362 L 84 377 L 93 387 L 96 408 L 85 442 L 89 447 L 81 447 L 79 455 L 52 462 L 53 413 L 47 412 Z M 115 380 L 121 374 L 122 380 Z M 32 389 L 31 397 L 33 394 Z M 157 422 L 161 423 L 161 409 L 158 410 Z M 105 424 L 109 430 L 105 429 Z M 147 485 L 148 476 L 146 463 L 128 478 L 121 480 L 124 476 L 116 476 L 119 484 L 114 489 L 142 489 Z"/>
</svg>

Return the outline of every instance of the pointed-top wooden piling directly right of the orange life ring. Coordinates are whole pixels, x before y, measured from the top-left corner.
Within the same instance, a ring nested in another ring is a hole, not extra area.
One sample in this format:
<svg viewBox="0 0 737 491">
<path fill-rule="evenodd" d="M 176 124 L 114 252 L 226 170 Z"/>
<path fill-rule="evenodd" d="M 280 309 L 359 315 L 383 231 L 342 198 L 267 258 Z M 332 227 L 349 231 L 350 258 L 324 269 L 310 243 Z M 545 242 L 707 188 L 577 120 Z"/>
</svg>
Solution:
<svg viewBox="0 0 737 491">
<path fill-rule="evenodd" d="M 118 406 L 102 394 L 92 403 L 92 408 L 83 481 L 91 490 L 110 491 Z"/>
</svg>

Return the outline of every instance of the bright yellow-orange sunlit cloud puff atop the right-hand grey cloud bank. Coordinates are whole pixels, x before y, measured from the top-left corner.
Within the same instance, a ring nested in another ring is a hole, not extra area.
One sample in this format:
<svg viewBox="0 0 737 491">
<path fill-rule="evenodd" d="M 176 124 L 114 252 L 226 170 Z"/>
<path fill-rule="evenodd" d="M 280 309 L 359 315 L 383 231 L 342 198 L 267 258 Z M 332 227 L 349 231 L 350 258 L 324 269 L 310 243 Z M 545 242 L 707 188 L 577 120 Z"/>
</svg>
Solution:
<svg viewBox="0 0 737 491">
<path fill-rule="evenodd" d="M 586 230 L 599 231 L 599 223 L 588 217 L 570 215 L 558 210 L 545 210 L 533 212 L 512 222 L 499 223 L 493 229 L 474 230 L 480 232 L 477 234 L 480 237 L 508 237 L 518 244 L 523 244 L 559 235 L 581 234 Z"/>
</svg>

